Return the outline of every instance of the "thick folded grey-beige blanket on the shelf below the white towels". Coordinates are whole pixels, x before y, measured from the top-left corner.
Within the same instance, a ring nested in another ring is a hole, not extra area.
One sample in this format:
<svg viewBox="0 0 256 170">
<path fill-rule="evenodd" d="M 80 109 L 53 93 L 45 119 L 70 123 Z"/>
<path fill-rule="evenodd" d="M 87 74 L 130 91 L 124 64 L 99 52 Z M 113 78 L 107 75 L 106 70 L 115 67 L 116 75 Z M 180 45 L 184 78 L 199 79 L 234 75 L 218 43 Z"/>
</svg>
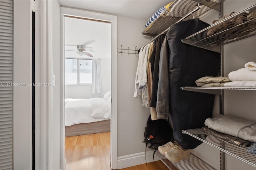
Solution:
<svg viewBox="0 0 256 170">
<path fill-rule="evenodd" d="M 255 121 L 245 120 L 230 115 L 219 115 L 213 119 L 206 119 L 204 125 L 218 132 L 238 137 L 242 128 L 249 127 L 256 123 Z M 247 140 L 247 139 L 244 139 Z"/>
</svg>

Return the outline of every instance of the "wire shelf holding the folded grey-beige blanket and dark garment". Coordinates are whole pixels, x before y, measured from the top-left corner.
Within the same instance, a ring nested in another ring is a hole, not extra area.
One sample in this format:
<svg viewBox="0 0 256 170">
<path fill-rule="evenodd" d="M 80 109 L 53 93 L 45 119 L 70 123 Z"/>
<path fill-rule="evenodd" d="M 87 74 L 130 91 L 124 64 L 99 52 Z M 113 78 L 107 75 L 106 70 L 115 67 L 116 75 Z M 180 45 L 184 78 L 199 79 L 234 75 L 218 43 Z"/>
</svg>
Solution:
<svg viewBox="0 0 256 170">
<path fill-rule="evenodd" d="M 248 147 L 246 146 L 238 146 L 236 144 L 229 143 L 216 136 L 203 132 L 200 128 L 182 130 L 182 133 L 188 134 L 198 140 L 201 140 L 202 142 L 209 144 L 210 146 L 213 146 L 214 148 L 230 154 L 243 162 L 246 162 L 247 164 L 250 164 L 251 166 L 256 167 L 256 154 L 247 152 Z"/>
</svg>

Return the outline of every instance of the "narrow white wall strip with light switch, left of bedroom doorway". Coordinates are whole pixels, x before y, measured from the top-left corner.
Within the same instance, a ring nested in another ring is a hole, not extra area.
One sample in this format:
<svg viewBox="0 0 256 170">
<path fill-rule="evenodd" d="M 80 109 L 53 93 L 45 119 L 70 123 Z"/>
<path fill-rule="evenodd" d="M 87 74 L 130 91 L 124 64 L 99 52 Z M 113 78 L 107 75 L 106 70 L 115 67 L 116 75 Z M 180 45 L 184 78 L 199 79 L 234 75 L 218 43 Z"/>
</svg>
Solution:
<svg viewBox="0 0 256 170">
<path fill-rule="evenodd" d="M 56 86 L 53 87 L 53 103 L 52 103 L 52 167 L 54 170 L 60 169 L 60 4 L 58 1 L 52 1 L 52 56 L 53 56 L 53 74 L 56 75 Z"/>
</svg>

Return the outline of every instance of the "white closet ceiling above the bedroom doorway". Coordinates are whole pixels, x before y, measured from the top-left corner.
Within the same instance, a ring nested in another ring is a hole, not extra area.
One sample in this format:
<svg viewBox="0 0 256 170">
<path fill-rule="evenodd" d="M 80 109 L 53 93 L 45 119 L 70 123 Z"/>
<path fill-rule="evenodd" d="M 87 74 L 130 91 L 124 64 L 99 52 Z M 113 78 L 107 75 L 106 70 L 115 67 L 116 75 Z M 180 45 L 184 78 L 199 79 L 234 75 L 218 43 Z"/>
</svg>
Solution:
<svg viewBox="0 0 256 170">
<path fill-rule="evenodd" d="M 60 6 L 148 20 L 173 0 L 59 0 Z"/>
</svg>

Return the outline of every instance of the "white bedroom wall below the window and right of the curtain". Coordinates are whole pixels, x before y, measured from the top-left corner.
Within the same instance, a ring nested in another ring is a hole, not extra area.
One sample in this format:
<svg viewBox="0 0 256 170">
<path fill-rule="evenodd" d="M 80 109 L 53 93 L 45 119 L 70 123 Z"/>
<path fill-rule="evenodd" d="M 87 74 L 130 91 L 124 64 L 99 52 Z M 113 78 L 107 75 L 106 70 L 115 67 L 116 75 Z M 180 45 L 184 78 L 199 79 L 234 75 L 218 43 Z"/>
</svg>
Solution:
<svg viewBox="0 0 256 170">
<path fill-rule="evenodd" d="M 100 69 L 102 76 L 102 93 L 92 94 L 91 85 L 66 85 L 65 98 L 89 99 L 92 97 L 103 97 L 107 91 L 111 90 L 111 59 L 100 59 Z"/>
</svg>

